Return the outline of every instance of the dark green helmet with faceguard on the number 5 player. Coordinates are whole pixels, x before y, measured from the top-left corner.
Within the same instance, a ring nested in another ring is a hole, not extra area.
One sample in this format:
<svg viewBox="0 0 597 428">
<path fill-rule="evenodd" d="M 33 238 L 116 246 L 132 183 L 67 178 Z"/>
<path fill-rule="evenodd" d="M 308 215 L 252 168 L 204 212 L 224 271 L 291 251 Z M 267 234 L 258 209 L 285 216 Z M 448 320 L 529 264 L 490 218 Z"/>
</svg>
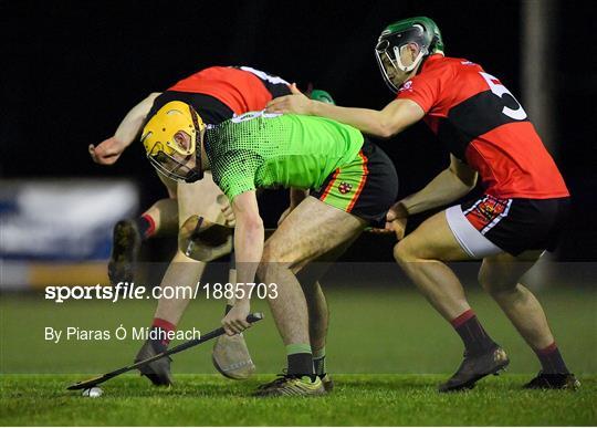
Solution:
<svg viewBox="0 0 597 428">
<path fill-rule="evenodd" d="M 419 54 L 412 64 L 407 66 L 402 64 L 400 53 L 408 43 L 417 44 Z M 436 52 L 443 52 L 443 40 L 436 22 L 427 17 L 407 18 L 389 24 L 381 31 L 375 46 L 375 56 L 384 80 L 394 92 L 397 92 L 398 87 L 389 79 L 383 59 L 388 60 L 396 70 L 408 73 L 415 70 L 426 56 Z"/>
</svg>

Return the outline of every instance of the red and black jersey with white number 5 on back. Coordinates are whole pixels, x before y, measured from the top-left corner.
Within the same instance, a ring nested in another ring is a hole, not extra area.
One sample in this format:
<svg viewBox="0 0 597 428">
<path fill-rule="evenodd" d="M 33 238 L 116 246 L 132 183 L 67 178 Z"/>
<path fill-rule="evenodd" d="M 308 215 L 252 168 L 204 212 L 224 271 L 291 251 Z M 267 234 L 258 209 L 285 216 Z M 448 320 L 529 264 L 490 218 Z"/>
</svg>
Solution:
<svg viewBox="0 0 597 428">
<path fill-rule="evenodd" d="M 430 55 L 398 98 L 412 100 L 450 153 L 479 171 L 500 198 L 569 196 L 526 112 L 504 85 L 463 59 Z"/>
</svg>

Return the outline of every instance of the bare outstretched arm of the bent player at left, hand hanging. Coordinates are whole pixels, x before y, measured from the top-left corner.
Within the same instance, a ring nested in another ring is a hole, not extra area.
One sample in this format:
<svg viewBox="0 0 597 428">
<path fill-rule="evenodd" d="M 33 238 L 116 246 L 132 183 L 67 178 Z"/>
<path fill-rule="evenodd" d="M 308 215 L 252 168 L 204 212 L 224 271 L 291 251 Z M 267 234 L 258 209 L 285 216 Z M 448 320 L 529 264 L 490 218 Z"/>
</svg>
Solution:
<svg viewBox="0 0 597 428">
<path fill-rule="evenodd" d="M 154 92 L 134 106 L 126 114 L 112 137 L 103 140 L 97 147 L 90 144 L 88 150 L 93 161 L 100 165 L 113 165 L 118 160 L 123 152 L 139 134 L 142 125 L 159 94 L 159 92 Z"/>
</svg>

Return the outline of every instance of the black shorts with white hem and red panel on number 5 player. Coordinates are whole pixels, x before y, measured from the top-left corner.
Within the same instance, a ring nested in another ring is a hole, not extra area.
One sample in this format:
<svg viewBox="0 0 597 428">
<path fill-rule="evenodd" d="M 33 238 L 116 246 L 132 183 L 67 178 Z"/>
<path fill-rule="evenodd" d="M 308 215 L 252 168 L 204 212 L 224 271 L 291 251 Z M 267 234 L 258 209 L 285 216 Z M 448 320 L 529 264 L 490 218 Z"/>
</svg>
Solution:
<svg viewBox="0 0 597 428">
<path fill-rule="evenodd" d="M 501 199 L 484 195 L 448 208 L 452 233 L 469 255 L 481 259 L 505 251 L 553 251 L 569 211 L 570 198 Z"/>
</svg>

